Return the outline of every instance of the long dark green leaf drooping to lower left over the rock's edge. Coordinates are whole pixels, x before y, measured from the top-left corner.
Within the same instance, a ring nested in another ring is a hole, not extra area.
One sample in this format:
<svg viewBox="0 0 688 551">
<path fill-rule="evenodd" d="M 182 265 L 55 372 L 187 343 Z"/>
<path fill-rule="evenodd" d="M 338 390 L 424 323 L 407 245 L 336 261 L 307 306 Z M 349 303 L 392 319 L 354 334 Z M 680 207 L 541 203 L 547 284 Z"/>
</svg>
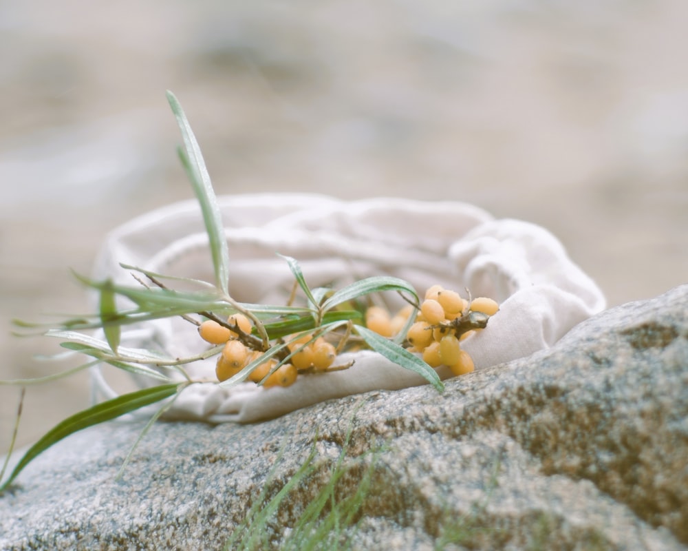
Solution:
<svg viewBox="0 0 688 551">
<path fill-rule="evenodd" d="M 19 460 L 19 463 L 12 474 L 6 481 L 0 486 L 0 492 L 3 492 L 10 486 L 12 481 L 19 475 L 19 472 L 27 466 L 30 461 L 35 459 L 38 455 L 43 453 L 47 448 L 50 448 L 53 444 L 56 444 L 61 439 L 88 428 L 89 426 L 94 426 L 130 411 L 140 409 L 149 404 L 155 404 L 155 402 L 160 402 L 165 398 L 175 395 L 179 391 L 180 384 L 163 384 L 160 386 L 153 386 L 151 388 L 143 388 L 140 391 L 132 392 L 129 394 L 123 394 L 116 398 L 107 400 L 107 402 L 102 402 L 101 404 L 96 404 L 95 406 L 80 411 L 67 417 L 63 422 L 58 423 L 54 428 L 49 430 L 39 441 L 36 442 L 29 450 L 23 455 Z"/>
</svg>

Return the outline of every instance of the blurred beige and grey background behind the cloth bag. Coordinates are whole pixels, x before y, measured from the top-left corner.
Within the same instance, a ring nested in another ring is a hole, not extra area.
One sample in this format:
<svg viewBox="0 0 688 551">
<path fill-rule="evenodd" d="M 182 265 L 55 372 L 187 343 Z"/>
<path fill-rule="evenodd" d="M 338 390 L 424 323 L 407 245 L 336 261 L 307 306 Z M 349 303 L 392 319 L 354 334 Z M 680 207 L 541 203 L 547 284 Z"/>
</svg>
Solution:
<svg viewBox="0 0 688 551">
<path fill-rule="evenodd" d="M 463 200 L 550 229 L 610 306 L 687 282 L 686 21 L 681 0 L 0 0 L 0 379 L 56 368 L 12 318 L 86 311 L 69 269 L 191 198 L 166 89 L 220 194 Z M 18 444 L 87 380 L 29 387 Z M 0 387 L 0 453 L 18 402 Z"/>
</svg>

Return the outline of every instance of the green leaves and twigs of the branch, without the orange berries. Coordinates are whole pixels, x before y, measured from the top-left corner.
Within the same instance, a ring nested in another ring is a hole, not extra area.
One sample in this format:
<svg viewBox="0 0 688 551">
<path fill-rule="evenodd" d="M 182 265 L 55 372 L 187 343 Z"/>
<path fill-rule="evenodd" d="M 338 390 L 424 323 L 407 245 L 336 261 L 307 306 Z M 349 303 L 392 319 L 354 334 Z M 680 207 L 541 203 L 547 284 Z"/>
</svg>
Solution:
<svg viewBox="0 0 688 551">
<path fill-rule="evenodd" d="M 230 295 L 228 246 L 222 214 L 213 191 L 213 185 L 200 147 L 179 101 L 172 92 L 167 92 L 167 99 L 182 133 L 184 147 L 180 147 L 178 152 L 202 211 L 208 235 L 208 245 L 211 249 L 215 282 L 158 274 L 127 265 L 123 265 L 123 267 L 142 273 L 153 284 L 123 285 L 109 278 L 97 281 L 75 274 L 76 278 L 85 286 L 98 292 L 99 301 L 96 313 L 74 316 L 57 324 L 33 324 L 17 320 L 17 326 L 23 329 L 39 329 L 43 331 L 44 335 L 60 338 L 63 348 L 92 357 L 93 361 L 58 375 L 42 377 L 34 381 L 21 380 L 14 382 L 14 384 L 24 385 L 31 382 L 54 380 L 56 377 L 69 375 L 81 368 L 98 363 L 109 364 L 136 375 L 145 375 L 151 377 L 155 382 L 162 382 L 163 384 L 109 399 L 80 411 L 57 424 L 30 447 L 5 481 L 0 480 L 2 483 L 0 492 L 12 484 L 19 472 L 32 459 L 72 433 L 157 402 L 173 400 L 187 386 L 195 382 L 207 382 L 193 380 L 186 373 L 184 366 L 217 355 L 222 350 L 222 346 L 214 346 L 200 354 L 178 358 L 168 357 L 152 350 L 131 349 L 120 344 L 123 326 L 176 316 L 212 318 L 222 322 L 223 316 L 226 318 L 226 316 L 235 313 L 246 315 L 252 322 L 252 331 L 250 335 L 248 333 L 242 335 L 242 340 L 244 344 L 261 351 L 263 355 L 257 360 L 248 362 L 233 377 L 224 382 L 218 382 L 217 384 L 223 388 L 246 380 L 252 371 L 270 358 L 277 360 L 270 373 L 274 373 L 280 366 L 289 362 L 296 353 L 303 349 L 301 346 L 298 349 L 290 350 L 289 344 L 294 340 L 293 335 L 310 335 L 308 341 L 310 343 L 324 335 L 336 333 L 340 334 L 340 342 L 336 351 L 340 351 L 348 340 L 356 340 L 356 344 L 359 346 L 365 344 L 392 362 L 419 373 L 438 391 L 442 391 L 444 388 L 433 368 L 402 346 L 406 331 L 413 320 L 409 319 L 409 323 L 393 340 L 381 337 L 367 329 L 361 312 L 349 307 L 352 302 L 356 302 L 365 295 L 396 291 L 418 309 L 418 294 L 411 284 L 404 280 L 387 276 L 374 276 L 349 284 L 343 289 L 312 289 L 308 286 L 297 260 L 283 256 L 282 258 L 286 260 L 288 268 L 294 275 L 296 284 L 305 295 L 303 306 L 292 306 L 291 303 L 289 306 L 250 304 L 239 302 Z M 163 279 L 171 282 L 191 283 L 198 289 L 195 291 L 176 291 L 162 284 L 161 280 Z M 138 281 L 142 282 L 141 280 Z M 230 326 L 226 323 L 225 325 L 228 326 L 228 329 L 239 332 L 237 325 Z M 105 339 L 83 332 L 94 329 L 102 331 Z M 240 332 L 239 334 L 241 335 Z M 345 367 L 338 366 L 338 368 Z M 170 370 L 175 371 L 178 377 L 173 377 L 173 373 L 169 373 Z M 270 373 L 263 377 L 261 384 L 266 382 Z M 0 384 L 10 383 L 12 382 L 0 381 Z M 151 423 L 162 413 L 164 407 L 158 410 L 155 417 L 151 419 Z"/>
</svg>

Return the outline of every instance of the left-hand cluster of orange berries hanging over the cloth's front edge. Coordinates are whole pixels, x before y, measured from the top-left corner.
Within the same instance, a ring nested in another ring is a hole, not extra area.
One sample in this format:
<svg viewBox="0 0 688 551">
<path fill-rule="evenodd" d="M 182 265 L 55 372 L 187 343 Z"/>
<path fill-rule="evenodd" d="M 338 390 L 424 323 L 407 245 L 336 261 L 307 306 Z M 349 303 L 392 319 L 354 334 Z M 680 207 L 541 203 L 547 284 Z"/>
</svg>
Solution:
<svg viewBox="0 0 688 551">
<path fill-rule="evenodd" d="M 234 327 L 235 331 L 215 320 L 206 320 L 198 328 L 199 335 L 206 342 L 224 344 L 215 365 L 215 375 L 220 382 L 233 377 L 248 364 L 257 362 L 264 355 L 263 352 L 252 349 L 244 342 L 252 329 L 252 324 L 245 315 L 230 315 L 227 325 Z M 265 379 L 263 386 L 266 388 L 290 386 L 297 380 L 299 373 L 327 371 L 327 368 L 334 363 L 336 349 L 322 337 L 314 338 L 312 335 L 287 337 L 286 342 L 290 363 L 283 363 L 275 369 L 279 363 L 278 360 L 268 357 L 265 362 L 259 363 L 251 371 L 248 380 L 259 383 Z"/>
</svg>

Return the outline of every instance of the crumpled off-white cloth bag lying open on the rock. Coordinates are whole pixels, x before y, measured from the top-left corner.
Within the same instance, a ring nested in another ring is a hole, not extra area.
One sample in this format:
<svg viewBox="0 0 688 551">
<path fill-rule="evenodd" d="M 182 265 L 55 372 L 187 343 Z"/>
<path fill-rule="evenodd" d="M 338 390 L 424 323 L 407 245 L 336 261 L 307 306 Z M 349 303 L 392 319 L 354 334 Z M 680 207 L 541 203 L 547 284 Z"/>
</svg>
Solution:
<svg viewBox="0 0 688 551">
<path fill-rule="evenodd" d="M 551 233 L 528 222 L 495 220 L 465 203 L 256 194 L 220 197 L 219 205 L 235 300 L 285 304 L 294 279 L 276 253 L 296 258 L 311 287 L 337 289 L 370 275 L 394 275 L 413 284 L 420 295 L 436 283 L 462 295 L 468 288 L 473 296 L 500 304 L 486 330 L 462 343 L 476 369 L 552 346 L 605 306 L 599 288 Z M 96 260 L 94 277 L 132 284 L 120 262 L 212 282 L 200 207 L 195 201 L 180 202 L 115 229 Z M 402 305 L 394 293 L 387 294 L 392 309 Z M 195 326 L 175 318 L 125 326 L 122 346 L 180 356 L 207 345 Z M 347 360 L 355 363 L 345 371 L 301 376 L 288 388 L 195 384 L 182 392 L 166 417 L 254 422 L 326 399 L 426 383 L 374 352 L 341 358 L 342 363 Z M 212 380 L 214 368 L 213 358 L 189 364 L 187 371 Z M 440 369 L 442 378 L 449 375 Z M 141 386 L 153 384 L 136 380 Z M 94 370 L 93 381 L 96 399 L 116 395 L 100 369 Z"/>
</svg>

